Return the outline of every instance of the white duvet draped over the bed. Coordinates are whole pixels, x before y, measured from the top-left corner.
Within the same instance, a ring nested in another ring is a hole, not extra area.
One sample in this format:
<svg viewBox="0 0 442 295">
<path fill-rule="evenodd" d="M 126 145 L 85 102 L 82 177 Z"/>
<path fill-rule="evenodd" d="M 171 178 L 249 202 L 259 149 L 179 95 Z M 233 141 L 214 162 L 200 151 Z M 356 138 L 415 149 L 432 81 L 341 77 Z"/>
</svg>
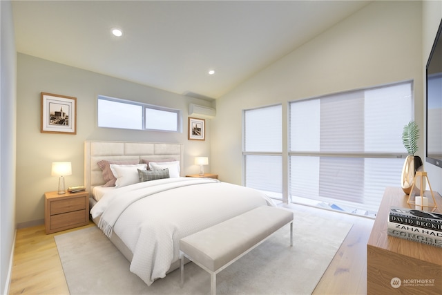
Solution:
<svg viewBox="0 0 442 295">
<path fill-rule="evenodd" d="M 114 189 L 90 210 L 133 253 L 131 272 L 147 285 L 164 278 L 178 260 L 179 241 L 262 205 L 264 193 L 206 178 L 167 178 Z"/>
</svg>

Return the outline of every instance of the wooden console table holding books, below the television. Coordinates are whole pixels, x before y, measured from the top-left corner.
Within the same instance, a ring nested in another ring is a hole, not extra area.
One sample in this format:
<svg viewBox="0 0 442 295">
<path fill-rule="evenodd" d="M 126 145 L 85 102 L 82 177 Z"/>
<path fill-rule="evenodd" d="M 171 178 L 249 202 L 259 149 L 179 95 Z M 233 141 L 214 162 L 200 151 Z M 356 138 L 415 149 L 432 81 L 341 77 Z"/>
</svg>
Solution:
<svg viewBox="0 0 442 295">
<path fill-rule="evenodd" d="M 434 197 L 440 213 L 442 197 L 436 192 Z M 367 242 L 369 295 L 442 293 L 442 248 L 387 235 L 390 207 L 409 208 L 407 199 L 401 188 L 385 189 Z"/>
</svg>

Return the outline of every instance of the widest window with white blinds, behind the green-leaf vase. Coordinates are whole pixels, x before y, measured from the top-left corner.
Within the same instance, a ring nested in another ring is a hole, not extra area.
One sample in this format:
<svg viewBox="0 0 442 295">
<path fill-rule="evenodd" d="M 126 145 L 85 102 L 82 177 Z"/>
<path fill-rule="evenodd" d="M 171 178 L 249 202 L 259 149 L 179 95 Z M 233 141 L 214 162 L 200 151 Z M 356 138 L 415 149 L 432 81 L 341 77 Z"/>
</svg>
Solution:
<svg viewBox="0 0 442 295">
<path fill-rule="evenodd" d="M 385 187 L 400 182 L 412 93 L 407 82 L 291 102 L 289 198 L 377 211 Z"/>
</svg>

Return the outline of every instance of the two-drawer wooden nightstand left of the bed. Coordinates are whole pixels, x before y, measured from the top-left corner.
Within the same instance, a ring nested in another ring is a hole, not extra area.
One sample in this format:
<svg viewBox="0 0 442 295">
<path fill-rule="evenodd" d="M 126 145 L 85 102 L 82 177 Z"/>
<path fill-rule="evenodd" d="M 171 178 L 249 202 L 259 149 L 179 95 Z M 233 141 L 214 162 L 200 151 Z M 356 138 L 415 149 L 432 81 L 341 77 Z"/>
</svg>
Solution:
<svg viewBox="0 0 442 295">
<path fill-rule="evenodd" d="M 46 234 L 89 224 L 89 193 L 44 194 L 44 226 Z"/>
</svg>

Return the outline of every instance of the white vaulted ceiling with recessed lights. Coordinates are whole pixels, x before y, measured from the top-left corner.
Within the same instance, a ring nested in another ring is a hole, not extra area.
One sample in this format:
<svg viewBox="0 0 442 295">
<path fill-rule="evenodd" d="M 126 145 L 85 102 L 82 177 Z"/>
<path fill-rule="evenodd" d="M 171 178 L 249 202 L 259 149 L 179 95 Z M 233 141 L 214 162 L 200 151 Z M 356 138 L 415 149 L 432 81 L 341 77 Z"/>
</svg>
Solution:
<svg viewBox="0 0 442 295">
<path fill-rule="evenodd" d="M 369 2 L 12 1 L 12 12 L 19 53 L 216 99 Z"/>
</svg>

